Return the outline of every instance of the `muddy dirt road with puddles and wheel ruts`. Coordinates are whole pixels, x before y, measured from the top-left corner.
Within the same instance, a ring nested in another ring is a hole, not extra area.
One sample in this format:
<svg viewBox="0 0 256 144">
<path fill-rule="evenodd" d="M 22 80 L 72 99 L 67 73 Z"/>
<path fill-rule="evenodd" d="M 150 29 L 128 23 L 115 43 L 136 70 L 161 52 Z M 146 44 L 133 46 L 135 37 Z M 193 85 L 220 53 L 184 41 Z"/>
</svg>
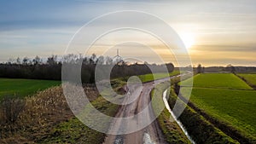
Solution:
<svg viewBox="0 0 256 144">
<path fill-rule="evenodd" d="M 160 84 L 161 82 L 170 80 L 170 78 L 163 78 L 157 80 L 156 84 Z M 150 92 L 154 89 L 154 82 L 149 82 L 143 84 L 142 92 L 139 93 L 137 89 L 131 90 L 131 95 L 125 98 L 125 101 L 129 101 L 128 99 L 134 99 L 135 101 L 131 102 L 128 105 L 124 105 L 120 108 L 119 112 L 116 115 L 116 118 L 125 118 L 136 115 L 138 112 L 142 112 L 146 107 L 146 114 L 143 115 L 143 121 L 150 121 L 154 119 L 154 112 L 151 106 L 151 98 Z M 122 121 L 115 120 L 110 126 L 109 130 L 124 130 L 130 129 L 132 127 L 138 126 L 137 123 L 141 119 L 135 117 L 133 120 L 128 123 L 124 123 Z M 159 124 L 156 120 L 148 126 L 144 127 L 143 130 L 139 130 L 137 132 L 127 134 L 127 135 L 107 135 L 104 144 L 165 144 L 166 141 L 164 136 L 160 130 Z"/>
</svg>

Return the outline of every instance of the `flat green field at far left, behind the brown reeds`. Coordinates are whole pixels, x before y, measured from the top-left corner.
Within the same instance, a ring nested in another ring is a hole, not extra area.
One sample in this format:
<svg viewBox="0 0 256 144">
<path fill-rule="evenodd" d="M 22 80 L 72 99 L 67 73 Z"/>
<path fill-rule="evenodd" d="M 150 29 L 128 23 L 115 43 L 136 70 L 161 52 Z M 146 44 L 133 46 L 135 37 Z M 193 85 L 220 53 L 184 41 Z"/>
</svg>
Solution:
<svg viewBox="0 0 256 144">
<path fill-rule="evenodd" d="M 0 99 L 4 95 L 32 95 L 38 90 L 59 85 L 61 81 L 0 78 Z"/>
</svg>

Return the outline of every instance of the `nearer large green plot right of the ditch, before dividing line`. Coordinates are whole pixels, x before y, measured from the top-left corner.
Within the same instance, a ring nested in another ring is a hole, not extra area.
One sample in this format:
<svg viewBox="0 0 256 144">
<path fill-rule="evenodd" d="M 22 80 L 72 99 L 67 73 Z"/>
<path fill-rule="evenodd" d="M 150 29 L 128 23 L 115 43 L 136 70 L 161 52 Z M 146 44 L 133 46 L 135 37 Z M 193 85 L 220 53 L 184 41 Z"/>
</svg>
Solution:
<svg viewBox="0 0 256 144">
<path fill-rule="evenodd" d="M 190 101 L 242 133 L 256 136 L 256 91 L 195 88 Z"/>
</svg>

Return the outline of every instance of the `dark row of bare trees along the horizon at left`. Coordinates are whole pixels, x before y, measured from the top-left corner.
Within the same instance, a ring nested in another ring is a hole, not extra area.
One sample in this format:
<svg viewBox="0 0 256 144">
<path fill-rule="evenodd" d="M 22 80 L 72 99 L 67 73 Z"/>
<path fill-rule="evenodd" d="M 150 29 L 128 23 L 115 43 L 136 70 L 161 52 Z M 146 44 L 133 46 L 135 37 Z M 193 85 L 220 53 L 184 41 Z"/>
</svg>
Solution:
<svg viewBox="0 0 256 144">
<path fill-rule="evenodd" d="M 81 79 L 85 84 L 95 83 L 96 65 L 101 65 L 102 72 L 104 69 L 113 67 L 111 78 L 126 78 L 127 76 L 148 74 L 151 70 L 154 72 L 172 72 L 174 66 L 172 63 L 156 65 L 156 64 L 138 64 L 129 63 L 120 59 L 112 59 L 109 56 L 90 56 L 82 55 L 64 55 L 62 58 L 57 55 L 51 55 L 46 60 L 36 56 L 33 59 L 24 57 L 15 60 L 8 60 L 0 64 L 0 78 L 29 78 L 29 79 L 48 79 L 61 80 L 61 67 L 63 64 L 73 66 L 81 66 Z"/>
</svg>

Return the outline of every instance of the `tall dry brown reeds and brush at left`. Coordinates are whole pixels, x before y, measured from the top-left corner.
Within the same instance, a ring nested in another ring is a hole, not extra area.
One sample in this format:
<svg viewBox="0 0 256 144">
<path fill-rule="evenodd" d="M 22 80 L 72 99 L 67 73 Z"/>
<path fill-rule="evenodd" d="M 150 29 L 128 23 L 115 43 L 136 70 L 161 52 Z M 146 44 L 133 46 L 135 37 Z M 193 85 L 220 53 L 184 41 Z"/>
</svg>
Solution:
<svg viewBox="0 0 256 144">
<path fill-rule="evenodd" d="M 84 92 L 90 101 L 95 100 L 98 96 L 94 87 L 86 86 Z M 54 125 L 73 117 L 73 112 L 67 105 L 61 86 L 46 89 L 19 101 L 24 103 L 20 109 L 16 105 L 18 100 L 13 100 L 13 103 L 9 105 L 10 108 L 17 111 L 16 119 L 11 123 L 4 120 L 8 119 L 6 115 L 9 111 L 6 111 L 4 103 L 1 105 L 0 143 L 37 142 L 47 137 Z"/>
</svg>

